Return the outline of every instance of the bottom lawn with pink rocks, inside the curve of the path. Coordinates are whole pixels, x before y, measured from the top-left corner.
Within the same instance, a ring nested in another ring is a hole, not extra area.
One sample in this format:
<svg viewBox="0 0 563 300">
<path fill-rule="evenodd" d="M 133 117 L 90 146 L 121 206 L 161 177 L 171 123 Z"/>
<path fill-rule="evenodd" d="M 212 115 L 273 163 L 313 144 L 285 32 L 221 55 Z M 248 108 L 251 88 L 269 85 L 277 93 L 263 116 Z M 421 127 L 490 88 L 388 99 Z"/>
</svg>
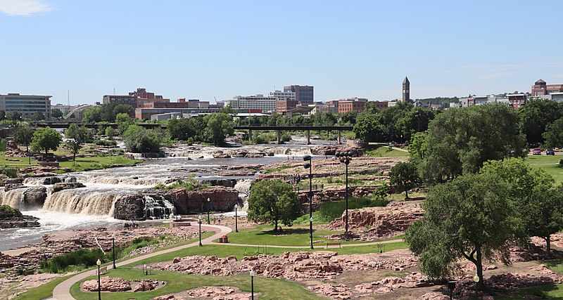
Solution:
<svg viewBox="0 0 563 300">
<path fill-rule="evenodd" d="M 241 291 L 251 292 L 251 279 L 248 274 L 239 274 L 234 276 L 206 276 L 154 270 L 151 275 L 143 275 L 142 270 L 129 267 L 118 268 L 116 270 L 108 269 L 107 276 L 119 277 L 127 280 L 141 278 L 158 279 L 159 281 L 165 281 L 166 285 L 160 289 L 148 292 L 102 292 L 101 297 L 104 299 L 108 298 L 110 294 L 111 299 L 115 300 L 144 300 L 151 299 L 154 296 L 177 293 L 185 291 L 186 289 L 204 286 L 239 287 Z M 91 276 L 85 280 L 93 279 L 96 279 L 96 277 Z M 70 294 L 78 300 L 98 299 L 97 292 L 80 292 L 81 282 L 77 282 L 75 285 L 72 285 L 70 288 Z M 323 299 L 296 282 L 289 282 L 276 278 L 265 278 L 262 276 L 254 277 L 254 292 L 261 293 L 260 299 Z"/>
</svg>

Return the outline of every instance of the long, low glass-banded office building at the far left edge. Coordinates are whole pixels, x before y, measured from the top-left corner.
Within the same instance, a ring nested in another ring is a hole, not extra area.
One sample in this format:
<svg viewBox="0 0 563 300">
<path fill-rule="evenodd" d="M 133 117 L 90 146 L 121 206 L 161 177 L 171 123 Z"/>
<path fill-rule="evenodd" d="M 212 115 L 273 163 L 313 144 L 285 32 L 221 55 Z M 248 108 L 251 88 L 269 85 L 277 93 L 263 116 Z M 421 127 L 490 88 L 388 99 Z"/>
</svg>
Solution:
<svg viewBox="0 0 563 300">
<path fill-rule="evenodd" d="M 19 93 L 0 94 L 0 110 L 4 112 L 20 112 L 28 118 L 41 112 L 46 119 L 51 118 L 51 97 L 37 95 L 20 95 Z"/>
</svg>

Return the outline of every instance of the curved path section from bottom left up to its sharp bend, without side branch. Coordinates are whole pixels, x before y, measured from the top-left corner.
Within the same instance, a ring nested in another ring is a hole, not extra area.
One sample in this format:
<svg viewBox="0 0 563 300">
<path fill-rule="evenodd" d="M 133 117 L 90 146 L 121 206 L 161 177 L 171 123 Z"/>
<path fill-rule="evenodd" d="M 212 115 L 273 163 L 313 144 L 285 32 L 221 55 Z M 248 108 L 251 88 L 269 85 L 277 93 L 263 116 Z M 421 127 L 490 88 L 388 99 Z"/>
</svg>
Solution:
<svg viewBox="0 0 563 300">
<path fill-rule="evenodd" d="M 228 233 L 230 233 L 232 231 L 231 228 L 227 227 L 227 226 L 217 226 L 217 225 L 201 225 L 203 228 L 212 228 L 213 231 L 215 230 L 219 230 L 217 233 L 215 233 L 215 235 L 212 235 L 210 237 L 205 238 L 204 240 L 201 240 L 202 244 L 212 244 L 213 240 L 218 239 L 219 237 L 221 237 L 222 235 L 226 235 Z M 152 252 L 149 254 L 144 254 L 141 256 L 137 256 L 134 257 L 132 259 L 127 259 L 127 261 L 120 261 L 118 263 L 115 263 L 115 266 L 125 266 L 129 263 L 135 263 L 137 261 L 142 261 L 143 259 L 148 259 L 149 257 L 152 256 L 157 256 L 160 254 L 165 254 L 165 253 L 169 253 L 169 252 L 174 252 L 180 249 L 186 249 L 189 247 L 194 247 L 197 246 L 199 244 L 199 241 L 197 242 L 193 242 L 191 244 L 184 244 L 182 246 L 178 246 L 178 247 L 174 247 L 174 248 L 170 248 L 170 249 L 165 249 L 162 251 L 158 251 L 158 252 Z M 108 265 L 111 266 L 111 265 Z M 68 278 L 67 280 L 59 283 L 55 289 L 53 289 L 53 298 L 52 299 L 56 299 L 56 300 L 75 300 L 75 298 L 70 295 L 70 287 L 72 287 L 72 285 L 74 285 L 76 282 L 79 282 L 80 280 L 83 280 L 84 278 L 87 278 L 89 276 L 94 276 L 96 275 L 96 270 L 89 270 L 83 273 L 78 273 L 77 275 L 72 276 L 71 278 Z"/>
</svg>

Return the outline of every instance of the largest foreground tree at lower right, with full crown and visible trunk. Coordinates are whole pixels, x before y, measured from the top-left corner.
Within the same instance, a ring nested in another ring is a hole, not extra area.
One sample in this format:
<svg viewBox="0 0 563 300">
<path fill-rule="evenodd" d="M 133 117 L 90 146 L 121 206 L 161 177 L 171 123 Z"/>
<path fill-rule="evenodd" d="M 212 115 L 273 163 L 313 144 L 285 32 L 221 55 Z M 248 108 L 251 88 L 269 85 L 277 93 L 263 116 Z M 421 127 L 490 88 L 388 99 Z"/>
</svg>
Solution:
<svg viewBox="0 0 563 300">
<path fill-rule="evenodd" d="M 468 174 L 431 188 L 424 216 L 405 231 L 422 272 L 445 278 L 465 258 L 476 266 L 482 287 L 483 259 L 509 264 L 510 247 L 526 237 L 509 190 L 494 174 Z"/>
</svg>

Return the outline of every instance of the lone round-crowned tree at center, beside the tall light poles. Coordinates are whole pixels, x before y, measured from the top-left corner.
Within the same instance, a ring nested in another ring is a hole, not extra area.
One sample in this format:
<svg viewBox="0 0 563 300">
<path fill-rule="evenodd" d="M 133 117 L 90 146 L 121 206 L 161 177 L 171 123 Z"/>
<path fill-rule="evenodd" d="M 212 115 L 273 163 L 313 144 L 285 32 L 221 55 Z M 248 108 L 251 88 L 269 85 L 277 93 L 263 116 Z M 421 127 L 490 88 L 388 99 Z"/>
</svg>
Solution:
<svg viewBox="0 0 563 300">
<path fill-rule="evenodd" d="M 265 180 L 255 183 L 248 197 L 248 219 L 255 222 L 274 222 L 291 226 L 299 216 L 301 203 L 289 183 L 279 180 Z"/>
</svg>

